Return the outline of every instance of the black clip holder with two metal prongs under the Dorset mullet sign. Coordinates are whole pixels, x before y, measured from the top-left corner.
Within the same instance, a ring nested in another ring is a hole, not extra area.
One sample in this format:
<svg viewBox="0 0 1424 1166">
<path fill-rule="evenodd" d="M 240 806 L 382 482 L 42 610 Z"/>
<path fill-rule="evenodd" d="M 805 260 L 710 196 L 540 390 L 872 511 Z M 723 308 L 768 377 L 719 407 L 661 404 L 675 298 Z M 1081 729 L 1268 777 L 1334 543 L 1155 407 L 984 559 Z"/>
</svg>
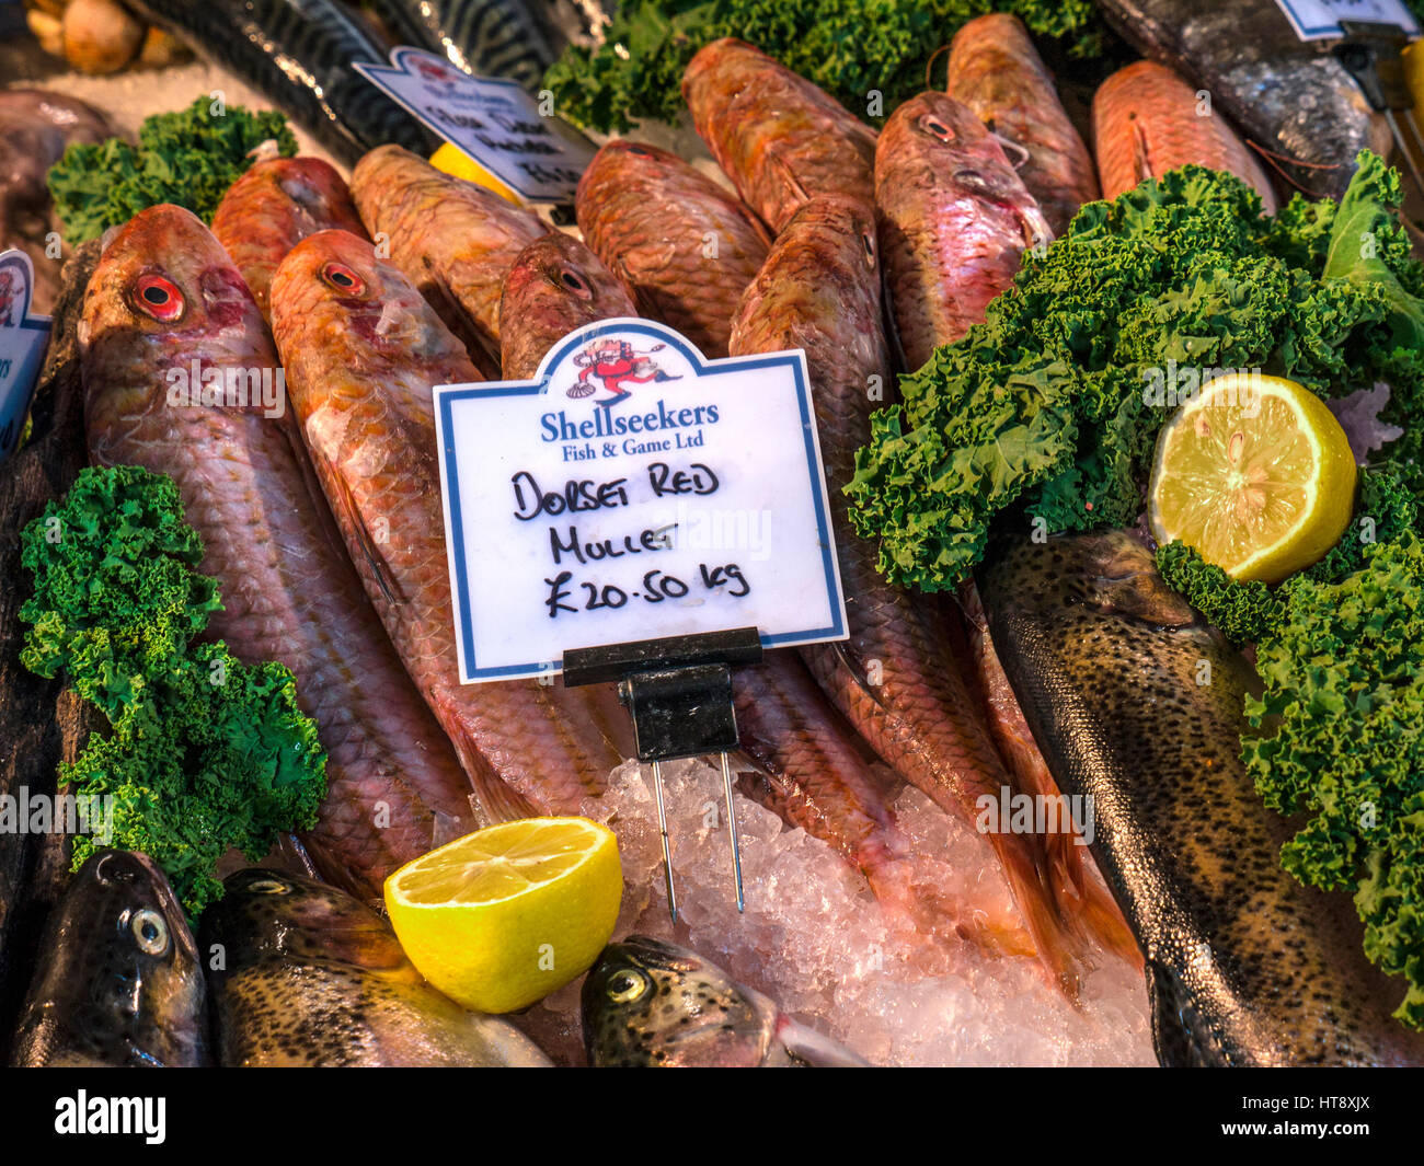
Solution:
<svg viewBox="0 0 1424 1166">
<path fill-rule="evenodd" d="M 662 799 L 662 763 L 678 757 L 718 753 L 726 794 L 726 829 L 732 843 L 736 910 L 742 894 L 742 851 L 736 839 L 732 803 L 732 766 L 728 752 L 738 745 L 736 709 L 732 705 L 732 665 L 762 659 L 756 628 L 728 632 L 665 636 L 564 652 L 568 688 L 617 681 L 618 699 L 632 716 L 638 760 L 652 763 L 652 789 L 658 799 L 662 836 L 662 870 L 668 883 L 668 910 L 678 921 L 678 894 L 672 880 L 672 849 Z"/>
</svg>

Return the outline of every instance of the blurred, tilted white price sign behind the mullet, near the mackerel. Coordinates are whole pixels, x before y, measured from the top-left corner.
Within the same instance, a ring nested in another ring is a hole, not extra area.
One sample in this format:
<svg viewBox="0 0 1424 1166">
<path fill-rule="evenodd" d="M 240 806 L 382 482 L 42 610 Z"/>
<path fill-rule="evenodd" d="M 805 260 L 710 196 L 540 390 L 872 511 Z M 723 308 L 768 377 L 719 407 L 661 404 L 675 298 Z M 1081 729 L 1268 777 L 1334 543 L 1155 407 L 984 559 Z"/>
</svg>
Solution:
<svg viewBox="0 0 1424 1166">
<path fill-rule="evenodd" d="M 353 61 L 367 81 L 531 202 L 572 202 L 594 147 L 514 81 L 474 77 L 423 48 Z"/>
</svg>

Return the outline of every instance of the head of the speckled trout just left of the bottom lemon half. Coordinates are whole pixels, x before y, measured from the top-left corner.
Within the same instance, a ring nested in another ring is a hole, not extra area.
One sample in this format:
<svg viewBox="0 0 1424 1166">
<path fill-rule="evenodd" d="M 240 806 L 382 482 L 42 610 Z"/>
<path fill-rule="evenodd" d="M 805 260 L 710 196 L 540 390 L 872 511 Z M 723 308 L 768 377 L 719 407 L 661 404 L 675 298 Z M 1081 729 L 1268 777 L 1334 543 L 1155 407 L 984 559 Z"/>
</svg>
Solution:
<svg viewBox="0 0 1424 1166">
<path fill-rule="evenodd" d="M 228 876 L 202 917 L 205 944 L 221 947 L 224 971 L 266 962 L 335 960 L 369 971 L 400 971 L 406 954 L 370 907 L 312 878 L 249 867 Z"/>
</svg>

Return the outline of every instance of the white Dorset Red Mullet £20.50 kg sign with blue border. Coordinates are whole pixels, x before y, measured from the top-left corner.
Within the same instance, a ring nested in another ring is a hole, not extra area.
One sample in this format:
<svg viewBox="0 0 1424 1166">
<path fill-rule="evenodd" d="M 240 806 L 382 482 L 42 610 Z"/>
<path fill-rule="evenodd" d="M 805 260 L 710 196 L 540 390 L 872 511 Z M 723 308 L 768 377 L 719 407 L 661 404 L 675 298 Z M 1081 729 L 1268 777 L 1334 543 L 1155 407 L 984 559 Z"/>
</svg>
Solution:
<svg viewBox="0 0 1424 1166">
<path fill-rule="evenodd" d="M 844 639 L 806 357 L 601 320 L 530 382 L 434 390 L 460 679 L 755 626 Z"/>
</svg>

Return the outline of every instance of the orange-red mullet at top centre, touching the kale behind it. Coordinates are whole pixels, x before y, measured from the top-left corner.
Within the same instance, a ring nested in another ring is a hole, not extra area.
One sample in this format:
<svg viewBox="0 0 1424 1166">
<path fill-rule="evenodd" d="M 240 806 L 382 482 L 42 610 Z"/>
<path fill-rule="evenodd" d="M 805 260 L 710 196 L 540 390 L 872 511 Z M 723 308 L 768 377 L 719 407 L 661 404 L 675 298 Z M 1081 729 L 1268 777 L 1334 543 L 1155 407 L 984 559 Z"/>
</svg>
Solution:
<svg viewBox="0 0 1424 1166">
<path fill-rule="evenodd" d="M 682 78 L 698 134 L 775 232 L 813 195 L 874 198 L 876 131 L 759 48 L 718 40 Z"/>
</svg>

